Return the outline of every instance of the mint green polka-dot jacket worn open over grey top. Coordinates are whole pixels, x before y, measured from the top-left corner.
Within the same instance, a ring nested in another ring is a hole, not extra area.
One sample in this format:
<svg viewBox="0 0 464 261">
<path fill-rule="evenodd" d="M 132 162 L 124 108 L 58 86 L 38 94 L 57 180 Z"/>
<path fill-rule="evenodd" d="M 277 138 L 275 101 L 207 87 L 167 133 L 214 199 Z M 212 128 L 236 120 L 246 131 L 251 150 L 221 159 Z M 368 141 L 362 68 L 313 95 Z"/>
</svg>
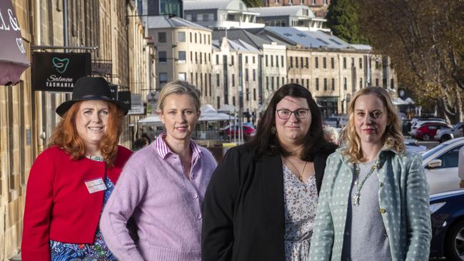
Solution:
<svg viewBox="0 0 464 261">
<path fill-rule="evenodd" d="M 341 154 L 327 159 L 309 260 L 341 260 L 355 165 Z M 429 188 L 418 154 L 382 149 L 377 158 L 378 202 L 393 261 L 428 260 L 432 229 Z M 355 221 L 355 220 L 354 220 Z M 369 240 L 369 238 L 365 238 Z"/>
</svg>

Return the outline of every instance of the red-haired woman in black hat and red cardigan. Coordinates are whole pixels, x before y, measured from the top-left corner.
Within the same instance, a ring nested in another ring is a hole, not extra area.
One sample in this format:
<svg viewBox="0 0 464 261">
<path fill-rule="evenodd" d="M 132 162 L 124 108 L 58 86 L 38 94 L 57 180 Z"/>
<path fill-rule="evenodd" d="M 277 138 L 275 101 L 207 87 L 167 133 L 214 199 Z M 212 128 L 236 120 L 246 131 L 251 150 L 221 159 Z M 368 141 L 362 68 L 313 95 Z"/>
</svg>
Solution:
<svg viewBox="0 0 464 261">
<path fill-rule="evenodd" d="M 26 190 L 22 260 L 116 260 L 101 236 L 101 210 L 131 150 L 118 145 L 128 108 L 104 78 L 79 78 Z"/>
</svg>

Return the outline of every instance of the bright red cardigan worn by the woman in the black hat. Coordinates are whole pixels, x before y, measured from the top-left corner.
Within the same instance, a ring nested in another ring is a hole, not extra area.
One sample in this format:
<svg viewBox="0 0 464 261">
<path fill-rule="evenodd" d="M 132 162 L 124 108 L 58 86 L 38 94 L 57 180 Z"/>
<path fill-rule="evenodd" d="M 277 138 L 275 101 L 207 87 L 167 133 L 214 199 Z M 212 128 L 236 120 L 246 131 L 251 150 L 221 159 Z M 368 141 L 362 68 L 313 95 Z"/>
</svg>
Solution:
<svg viewBox="0 0 464 261">
<path fill-rule="evenodd" d="M 106 175 L 116 184 L 131 150 L 118 146 Z M 71 160 L 59 148 L 36 158 L 29 173 L 24 209 L 22 260 L 50 260 L 49 240 L 91 244 L 99 224 L 104 190 L 89 193 L 85 181 L 104 178 L 105 164 L 89 158 Z"/>
</svg>

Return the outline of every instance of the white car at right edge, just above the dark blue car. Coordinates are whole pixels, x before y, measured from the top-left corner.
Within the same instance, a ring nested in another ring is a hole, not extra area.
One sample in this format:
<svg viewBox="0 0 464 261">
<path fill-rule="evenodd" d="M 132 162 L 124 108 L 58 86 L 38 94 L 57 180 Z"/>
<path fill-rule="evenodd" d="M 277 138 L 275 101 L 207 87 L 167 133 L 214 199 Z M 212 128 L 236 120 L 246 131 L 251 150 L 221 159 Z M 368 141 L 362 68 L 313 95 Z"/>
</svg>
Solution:
<svg viewBox="0 0 464 261">
<path fill-rule="evenodd" d="M 455 138 L 423 153 L 422 162 L 430 195 L 459 189 L 458 160 L 459 149 L 463 145 L 464 138 Z"/>
</svg>

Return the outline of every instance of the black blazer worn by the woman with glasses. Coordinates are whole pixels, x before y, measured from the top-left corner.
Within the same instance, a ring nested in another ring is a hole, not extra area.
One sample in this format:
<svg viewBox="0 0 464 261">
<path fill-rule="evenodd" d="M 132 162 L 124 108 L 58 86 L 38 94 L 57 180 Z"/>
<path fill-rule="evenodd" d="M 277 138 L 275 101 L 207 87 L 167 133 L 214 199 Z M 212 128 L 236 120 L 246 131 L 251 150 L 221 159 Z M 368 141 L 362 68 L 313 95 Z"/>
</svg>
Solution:
<svg viewBox="0 0 464 261">
<path fill-rule="evenodd" d="M 314 158 L 318 193 L 329 154 Z M 203 203 L 203 261 L 285 260 L 281 156 L 255 155 L 231 148 L 213 173 Z"/>
</svg>

